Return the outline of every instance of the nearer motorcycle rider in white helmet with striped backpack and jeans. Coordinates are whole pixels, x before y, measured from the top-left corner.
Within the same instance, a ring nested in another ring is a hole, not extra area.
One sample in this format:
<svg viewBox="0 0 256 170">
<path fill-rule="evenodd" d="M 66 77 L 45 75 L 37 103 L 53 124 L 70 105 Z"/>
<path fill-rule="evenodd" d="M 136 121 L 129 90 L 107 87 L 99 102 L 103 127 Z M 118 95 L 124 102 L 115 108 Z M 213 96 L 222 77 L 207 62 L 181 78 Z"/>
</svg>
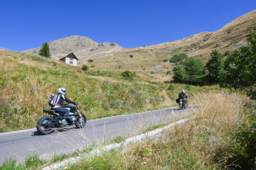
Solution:
<svg viewBox="0 0 256 170">
<path fill-rule="evenodd" d="M 65 113 L 64 114 L 64 119 L 61 120 L 60 123 L 68 125 L 68 122 L 65 119 L 68 117 L 70 111 L 67 108 L 62 108 L 61 107 L 61 106 L 63 106 L 63 101 L 67 101 L 68 103 L 73 103 L 75 105 L 77 105 L 78 103 L 75 103 L 74 101 L 71 101 L 70 99 L 66 98 L 65 92 L 66 92 L 65 88 L 59 88 L 58 89 L 58 98 L 57 98 L 57 101 L 56 101 L 55 106 L 53 107 L 53 109 L 55 111 Z"/>
</svg>

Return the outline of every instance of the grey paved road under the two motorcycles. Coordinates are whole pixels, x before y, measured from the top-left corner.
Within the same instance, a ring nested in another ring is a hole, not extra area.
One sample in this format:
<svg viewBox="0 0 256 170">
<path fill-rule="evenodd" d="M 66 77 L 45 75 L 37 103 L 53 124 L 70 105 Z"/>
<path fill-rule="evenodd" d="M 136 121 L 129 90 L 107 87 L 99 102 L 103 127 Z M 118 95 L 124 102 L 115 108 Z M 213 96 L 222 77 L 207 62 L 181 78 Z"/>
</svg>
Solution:
<svg viewBox="0 0 256 170">
<path fill-rule="evenodd" d="M 186 116 L 191 110 L 188 108 L 180 111 L 178 107 L 174 107 L 88 120 L 85 128 L 72 126 L 50 135 L 40 135 L 36 129 L 0 133 L 0 165 L 10 157 L 17 162 L 22 162 L 33 154 L 47 159 L 53 154 L 83 149 L 92 142 L 100 143 L 117 136 L 131 137 L 152 125 L 170 123 L 176 118 Z"/>
</svg>

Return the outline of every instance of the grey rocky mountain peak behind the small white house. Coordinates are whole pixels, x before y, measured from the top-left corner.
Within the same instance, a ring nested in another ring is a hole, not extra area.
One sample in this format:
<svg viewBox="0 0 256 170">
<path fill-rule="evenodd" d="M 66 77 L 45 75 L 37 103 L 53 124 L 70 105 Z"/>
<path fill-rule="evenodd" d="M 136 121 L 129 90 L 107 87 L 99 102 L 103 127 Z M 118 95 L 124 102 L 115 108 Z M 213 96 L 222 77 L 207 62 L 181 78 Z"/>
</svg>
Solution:
<svg viewBox="0 0 256 170">
<path fill-rule="evenodd" d="M 65 57 L 73 52 L 80 62 L 87 62 L 87 58 L 98 58 L 121 50 L 122 47 L 116 42 L 95 42 L 94 40 L 80 35 L 72 35 L 48 42 L 50 54 L 53 57 Z M 41 47 L 25 50 L 31 54 L 38 54 Z"/>
</svg>

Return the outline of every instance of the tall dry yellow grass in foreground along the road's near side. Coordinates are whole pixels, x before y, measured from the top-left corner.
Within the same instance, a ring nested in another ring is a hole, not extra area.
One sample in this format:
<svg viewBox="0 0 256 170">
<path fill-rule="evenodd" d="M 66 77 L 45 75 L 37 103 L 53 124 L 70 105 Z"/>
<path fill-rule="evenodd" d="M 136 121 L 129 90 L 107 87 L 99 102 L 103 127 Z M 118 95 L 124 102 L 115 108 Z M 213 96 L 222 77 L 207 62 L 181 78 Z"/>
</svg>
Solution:
<svg viewBox="0 0 256 170">
<path fill-rule="evenodd" d="M 201 103 L 195 118 L 166 130 L 160 142 L 132 144 L 125 153 L 105 153 L 70 169 L 222 169 L 221 162 L 215 162 L 215 154 L 228 146 L 229 134 L 246 119 L 241 113 L 249 98 L 223 91 L 200 93 L 193 100 Z"/>
</svg>

